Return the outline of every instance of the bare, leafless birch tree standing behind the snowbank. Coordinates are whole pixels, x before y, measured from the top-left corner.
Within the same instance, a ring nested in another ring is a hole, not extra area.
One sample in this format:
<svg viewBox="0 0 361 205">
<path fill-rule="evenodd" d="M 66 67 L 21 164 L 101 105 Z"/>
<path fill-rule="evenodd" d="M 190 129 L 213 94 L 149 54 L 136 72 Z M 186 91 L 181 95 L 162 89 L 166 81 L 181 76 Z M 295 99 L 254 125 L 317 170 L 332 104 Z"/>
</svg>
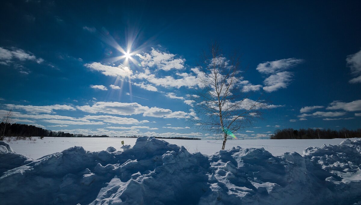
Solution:
<svg viewBox="0 0 361 205">
<path fill-rule="evenodd" d="M 197 85 L 188 89 L 191 124 L 222 136 L 222 150 L 226 141 L 261 118 L 261 108 L 266 107 L 261 96 L 250 99 L 254 90 L 244 87 L 240 58 L 237 54 L 226 58 L 217 43 L 201 55 L 201 63 L 193 69 Z"/>
</svg>

